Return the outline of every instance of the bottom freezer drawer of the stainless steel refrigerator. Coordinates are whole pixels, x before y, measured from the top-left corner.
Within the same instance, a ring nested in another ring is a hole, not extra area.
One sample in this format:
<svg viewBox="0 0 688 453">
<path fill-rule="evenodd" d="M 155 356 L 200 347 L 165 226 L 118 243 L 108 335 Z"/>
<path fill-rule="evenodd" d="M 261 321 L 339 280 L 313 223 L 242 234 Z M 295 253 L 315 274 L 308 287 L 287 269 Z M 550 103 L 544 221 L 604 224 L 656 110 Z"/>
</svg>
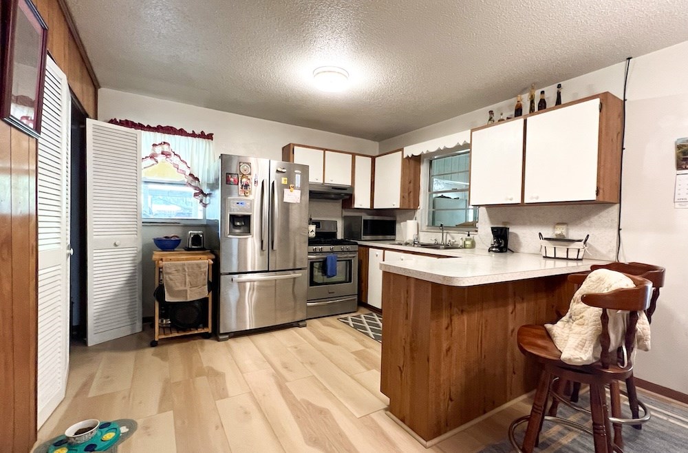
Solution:
<svg viewBox="0 0 688 453">
<path fill-rule="evenodd" d="M 219 334 L 305 319 L 308 275 L 302 271 L 220 275 Z"/>
</svg>

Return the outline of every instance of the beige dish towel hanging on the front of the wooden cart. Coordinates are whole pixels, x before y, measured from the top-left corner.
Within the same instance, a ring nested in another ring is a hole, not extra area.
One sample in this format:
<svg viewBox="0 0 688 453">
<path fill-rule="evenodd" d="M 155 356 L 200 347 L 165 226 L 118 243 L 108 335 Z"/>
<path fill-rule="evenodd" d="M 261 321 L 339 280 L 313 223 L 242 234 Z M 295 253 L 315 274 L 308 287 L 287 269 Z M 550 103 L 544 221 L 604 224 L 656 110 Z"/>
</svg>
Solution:
<svg viewBox="0 0 688 453">
<path fill-rule="evenodd" d="M 208 260 L 162 263 L 166 302 L 188 302 L 208 297 Z"/>
</svg>

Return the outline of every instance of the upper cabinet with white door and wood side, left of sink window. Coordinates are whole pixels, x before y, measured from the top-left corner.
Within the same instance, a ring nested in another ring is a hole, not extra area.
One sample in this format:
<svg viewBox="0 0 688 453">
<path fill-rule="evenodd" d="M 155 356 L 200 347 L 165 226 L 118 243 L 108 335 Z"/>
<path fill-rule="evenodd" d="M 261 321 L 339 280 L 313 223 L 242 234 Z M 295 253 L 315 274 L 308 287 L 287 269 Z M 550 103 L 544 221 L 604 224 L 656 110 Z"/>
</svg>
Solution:
<svg viewBox="0 0 688 453">
<path fill-rule="evenodd" d="M 418 209 L 420 156 L 404 157 L 397 149 L 375 157 L 374 209 Z"/>
</svg>

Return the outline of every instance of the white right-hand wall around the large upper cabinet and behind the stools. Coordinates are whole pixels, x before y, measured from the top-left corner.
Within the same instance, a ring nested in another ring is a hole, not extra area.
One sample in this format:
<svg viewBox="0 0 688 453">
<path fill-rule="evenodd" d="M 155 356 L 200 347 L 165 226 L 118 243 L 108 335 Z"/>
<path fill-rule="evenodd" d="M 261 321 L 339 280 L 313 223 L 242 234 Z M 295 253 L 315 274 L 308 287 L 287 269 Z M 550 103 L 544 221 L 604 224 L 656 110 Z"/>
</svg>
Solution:
<svg viewBox="0 0 688 453">
<path fill-rule="evenodd" d="M 625 62 L 563 81 L 563 102 L 611 92 L 623 97 Z M 623 159 L 621 204 L 622 261 L 658 264 L 667 268 L 665 287 L 652 323 L 652 351 L 639 352 L 635 375 L 688 393 L 688 209 L 674 209 L 674 142 L 688 136 L 688 42 L 632 60 L 627 90 L 626 150 Z M 537 89 L 541 89 L 537 87 Z M 555 85 L 545 87 L 553 105 Z M 380 142 L 380 152 L 398 149 L 484 125 L 488 110 L 513 114 L 513 99 L 457 116 Z M 527 109 L 527 102 L 524 103 Z M 510 222 L 518 237 L 530 238 L 553 219 L 571 219 L 577 231 L 591 233 L 600 255 L 616 246 L 616 215 L 612 207 L 481 208 L 480 239 L 485 222 Z M 400 213 L 398 220 L 416 211 Z M 550 227 L 550 226 L 549 226 Z M 551 227 L 550 227 L 551 228 Z M 571 224 L 570 224 L 571 229 Z M 594 233 L 593 233 L 594 232 Z M 426 233 L 429 235 L 430 233 Z M 598 241 L 596 236 L 603 238 Z M 532 248 L 530 239 L 521 244 Z M 480 241 L 478 242 L 480 246 Z"/>
</svg>

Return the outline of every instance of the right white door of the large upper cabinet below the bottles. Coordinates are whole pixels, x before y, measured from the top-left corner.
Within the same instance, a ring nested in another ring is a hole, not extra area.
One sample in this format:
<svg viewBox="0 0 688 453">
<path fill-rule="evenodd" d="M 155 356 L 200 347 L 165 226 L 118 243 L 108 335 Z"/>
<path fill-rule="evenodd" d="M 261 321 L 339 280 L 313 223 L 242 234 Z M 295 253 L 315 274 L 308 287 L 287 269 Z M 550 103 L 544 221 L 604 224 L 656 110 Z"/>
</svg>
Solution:
<svg viewBox="0 0 688 453">
<path fill-rule="evenodd" d="M 599 98 L 527 119 L 524 202 L 596 200 Z"/>
</svg>

